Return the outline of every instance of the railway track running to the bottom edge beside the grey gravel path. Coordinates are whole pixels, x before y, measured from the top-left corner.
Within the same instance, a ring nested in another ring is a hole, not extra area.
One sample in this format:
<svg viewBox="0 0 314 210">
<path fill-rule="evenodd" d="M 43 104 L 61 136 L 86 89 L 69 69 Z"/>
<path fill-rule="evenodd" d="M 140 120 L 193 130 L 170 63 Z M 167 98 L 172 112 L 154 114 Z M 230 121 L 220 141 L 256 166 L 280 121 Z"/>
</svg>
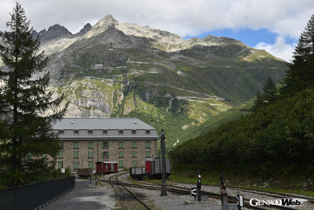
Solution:
<svg viewBox="0 0 314 210">
<path fill-rule="evenodd" d="M 126 197 L 127 200 L 130 200 L 130 197 L 128 197 L 125 193 L 122 192 L 122 190 L 117 190 L 117 186 L 121 186 L 124 191 L 127 190 L 127 194 L 131 194 L 133 198 L 135 198 L 137 201 L 139 201 L 139 203 L 141 203 L 142 205 L 144 205 L 144 207 L 146 207 L 147 209 L 149 210 L 152 210 L 146 203 L 144 203 L 140 198 L 138 198 L 138 196 L 136 196 L 131 190 L 127 189 L 126 185 L 122 182 L 120 182 L 120 180 L 118 179 L 119 176 L 122 176 L 124 174 L 127 174 L 128 172 L 125 172 L 125 173 L 120 173 L 120 174 L 115 174 L 111 177 L 109 177 L 109 180 L 100 180 L 100 181 L 106 181 L 106 182 L 109 182 L 113 188 L 113 190 L 115 191 L 116 193 L 116 196 L 120 202 L 120 205 L 122 207 L 123 210 L 126 210 L 127 208 L 124 206 L 123 202 L 122 202 L 122 199 L 125 199 L 125 198 L 122 198 L 122 196 Z M 116 181 L 112 180 L 112 178 L 115 178 Z M 120 196 L 119 196 L 119 193 L 118 191 L 120 192 Z M 128 204 L 131 204 L 131 202 L 128 202 Z M 136 207 L 132 207 L 131 209 L 136 209 Z"/>
</svg>

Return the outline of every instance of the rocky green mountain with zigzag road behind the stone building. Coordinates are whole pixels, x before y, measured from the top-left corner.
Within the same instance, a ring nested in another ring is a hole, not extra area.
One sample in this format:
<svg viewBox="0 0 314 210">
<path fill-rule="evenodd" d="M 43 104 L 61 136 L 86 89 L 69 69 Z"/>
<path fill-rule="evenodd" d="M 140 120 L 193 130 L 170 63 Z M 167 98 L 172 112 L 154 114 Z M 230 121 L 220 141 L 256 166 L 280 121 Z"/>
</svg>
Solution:
<svg viewBox="0 0 314 210">
<path fill-rule="evenodd" d="M 38 34 L 50 58 L 50 89 L 65 93 L 67 117 L 138 117 L 165 129 L 168 147 L 255 97 L 268 77 L 280 81 L 287 69 L 284 60 L 239 40 L 184 40 L 111 15 L 77 34 L 57 24 Z"/>
</svg>

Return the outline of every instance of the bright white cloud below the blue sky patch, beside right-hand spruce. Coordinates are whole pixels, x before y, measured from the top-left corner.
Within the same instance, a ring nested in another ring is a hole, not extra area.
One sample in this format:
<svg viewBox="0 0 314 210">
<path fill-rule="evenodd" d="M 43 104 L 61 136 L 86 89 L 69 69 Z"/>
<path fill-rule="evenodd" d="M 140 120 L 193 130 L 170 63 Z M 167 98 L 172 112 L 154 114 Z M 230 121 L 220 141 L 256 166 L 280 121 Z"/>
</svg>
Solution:
<svg viewBox="0 0 314 210">
<path fill-rule="evenodd" d="M 284 59 L 288 62 L 292 59 L 292 52 L 294 51 L 296 43 L 287 44 L 285 43 L 284 37 L 276 37 L 276 41 L 274 44 L 267 44 L 264 42 L 257 43 L 254 48 L 256 49 L 264 49 L 268 53 Z"/>
</svg>

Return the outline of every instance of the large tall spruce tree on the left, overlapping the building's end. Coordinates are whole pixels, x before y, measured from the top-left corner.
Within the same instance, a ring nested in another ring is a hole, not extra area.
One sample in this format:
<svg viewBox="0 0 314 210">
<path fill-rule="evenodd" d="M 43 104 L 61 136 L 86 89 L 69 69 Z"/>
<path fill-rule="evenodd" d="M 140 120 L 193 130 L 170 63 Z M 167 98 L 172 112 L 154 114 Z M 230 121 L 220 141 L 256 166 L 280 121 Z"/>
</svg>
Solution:
<svg viewBox="0 0 314 210">
<path fill-rule="evenodd" d="M 10 15 L 0 45 L 0 185 L 6 187 L 41 180 L 55 167 L 60 147 L 52 126 L 66 111 L 48 114 L 64 97 L 53 99 L 47 90 L 50 73 L 43 68 L 48 59 L 39 51 L 39 37 L 31 35 L 22 6 L 16 3 Z"/>
</svg>

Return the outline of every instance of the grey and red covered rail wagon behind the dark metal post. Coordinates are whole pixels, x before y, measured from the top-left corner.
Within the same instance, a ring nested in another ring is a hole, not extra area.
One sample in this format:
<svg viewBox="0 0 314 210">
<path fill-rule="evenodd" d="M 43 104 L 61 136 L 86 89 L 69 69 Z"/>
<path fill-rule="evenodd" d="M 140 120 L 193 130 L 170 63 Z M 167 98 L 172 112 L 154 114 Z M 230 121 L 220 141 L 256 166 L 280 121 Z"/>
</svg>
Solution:
<svg viewBox="0 0 314 210">
<path fill-rule="evenodd" d="M 162 158 L 153 157 L 145 160 L 146 174 L 156 179 L 161 179 Z M 171 175 L 171 160 L 166 158 L 166 178 Z"/>
</svg>

